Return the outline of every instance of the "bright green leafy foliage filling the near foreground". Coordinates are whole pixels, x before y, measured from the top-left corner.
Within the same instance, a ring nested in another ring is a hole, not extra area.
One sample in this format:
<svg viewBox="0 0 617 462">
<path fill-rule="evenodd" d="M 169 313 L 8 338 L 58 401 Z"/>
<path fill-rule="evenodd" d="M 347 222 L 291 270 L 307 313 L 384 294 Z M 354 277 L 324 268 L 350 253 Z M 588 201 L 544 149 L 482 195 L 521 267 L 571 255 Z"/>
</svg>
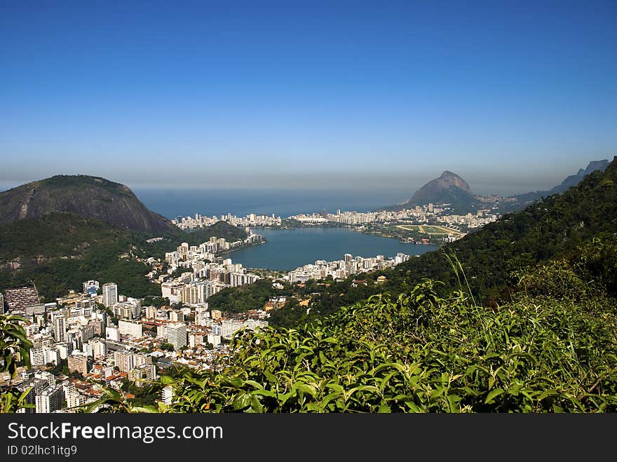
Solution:
<svg viewBox="0 0 617 462">
<path fill-rule="evenodd" d="M 607 291 L 616 257 L 606 248 L 593 241 L 578 264 L 519 275 L 502 306 L 478 306 L 463 283 L 442 297 L 442 283 L 425 279 L 298 328 L 241 331 L 217 371 L 161 378 L 175 390 L 169 407 L 134 407 L 116 393 L 90 410 L 617 412 L 617 303 Z"/>
</svg>

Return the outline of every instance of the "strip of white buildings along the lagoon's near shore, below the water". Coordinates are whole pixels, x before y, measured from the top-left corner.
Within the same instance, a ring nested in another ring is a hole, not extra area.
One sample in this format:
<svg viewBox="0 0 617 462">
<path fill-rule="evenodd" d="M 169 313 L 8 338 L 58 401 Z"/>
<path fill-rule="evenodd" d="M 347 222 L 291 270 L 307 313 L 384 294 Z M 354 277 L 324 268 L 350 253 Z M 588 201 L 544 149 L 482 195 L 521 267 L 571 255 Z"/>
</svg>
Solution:
<svg viewBox="0 0 617 462">
<path fill-rule="evenodd" d="M 409 255 L 402 253 L 398 253 L 395 257 L 388 259 L 384 258 L 384 255 L 365 258 L 345 254 L 342 260 L 317 260 L 315 264 L 301 266 L 287 273 L 286 279 L 290 283 L 306 283 L 309 279 L 320 280 L 328 276 L 332 276 L 334 280 L 345 279 L 358 273 L 391 268 L 408 259 Z"/>
</svg>

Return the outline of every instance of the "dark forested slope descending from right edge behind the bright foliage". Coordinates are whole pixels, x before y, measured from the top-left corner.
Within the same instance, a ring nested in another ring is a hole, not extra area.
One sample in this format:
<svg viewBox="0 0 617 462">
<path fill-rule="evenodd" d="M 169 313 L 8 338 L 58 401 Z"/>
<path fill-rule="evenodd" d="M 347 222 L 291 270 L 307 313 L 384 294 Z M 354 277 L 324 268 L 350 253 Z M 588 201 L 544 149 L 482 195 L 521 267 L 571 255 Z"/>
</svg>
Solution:
<svg viewBox="0 0 617 462">
<path fill-rule="evenodd" d="M 487 299 L 508 284 L 510 273 L 576 252 L 593 237 L 615 233 L 617 157 L 604 172 L 592 172 L 568 191 L 504 215 L 442 251 L 423 254 L 395 271 L 409 271 L 413 280 L 435 278 L 456 285 L 456 274 L 444 257 L 444 253 L 455 254 L 473 292 Z"/>
</svg>

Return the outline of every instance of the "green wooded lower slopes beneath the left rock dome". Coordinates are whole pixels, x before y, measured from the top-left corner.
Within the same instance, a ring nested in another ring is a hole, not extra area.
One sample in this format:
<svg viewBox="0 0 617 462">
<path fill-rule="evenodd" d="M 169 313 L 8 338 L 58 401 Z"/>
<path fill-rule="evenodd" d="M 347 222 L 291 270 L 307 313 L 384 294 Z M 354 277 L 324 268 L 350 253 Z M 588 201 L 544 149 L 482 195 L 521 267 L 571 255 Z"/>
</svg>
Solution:
<svg viewBox="0 0 617 462">
<path fill-rule="evenodd" d="M 151 269 L 137 257 L 163 258 L 182 242 L 197 245 L 212 236 L 236 240 L 246 233 L 219 222 L 192 233 L 178 230 L 147 243 L 152 237 L 148 233 L 69 212 L 20 219 L 0 226 L 0 292 L 34 281 L 42 298 L 53 301 L 69 289 L 81 291 L 83 281 L 95 279 L 118 283 L 128 297 L 160 295 L 160 286 L 144 276 Z M 11 262 L 19 268 L 13 269 Z"/>
</svg>

